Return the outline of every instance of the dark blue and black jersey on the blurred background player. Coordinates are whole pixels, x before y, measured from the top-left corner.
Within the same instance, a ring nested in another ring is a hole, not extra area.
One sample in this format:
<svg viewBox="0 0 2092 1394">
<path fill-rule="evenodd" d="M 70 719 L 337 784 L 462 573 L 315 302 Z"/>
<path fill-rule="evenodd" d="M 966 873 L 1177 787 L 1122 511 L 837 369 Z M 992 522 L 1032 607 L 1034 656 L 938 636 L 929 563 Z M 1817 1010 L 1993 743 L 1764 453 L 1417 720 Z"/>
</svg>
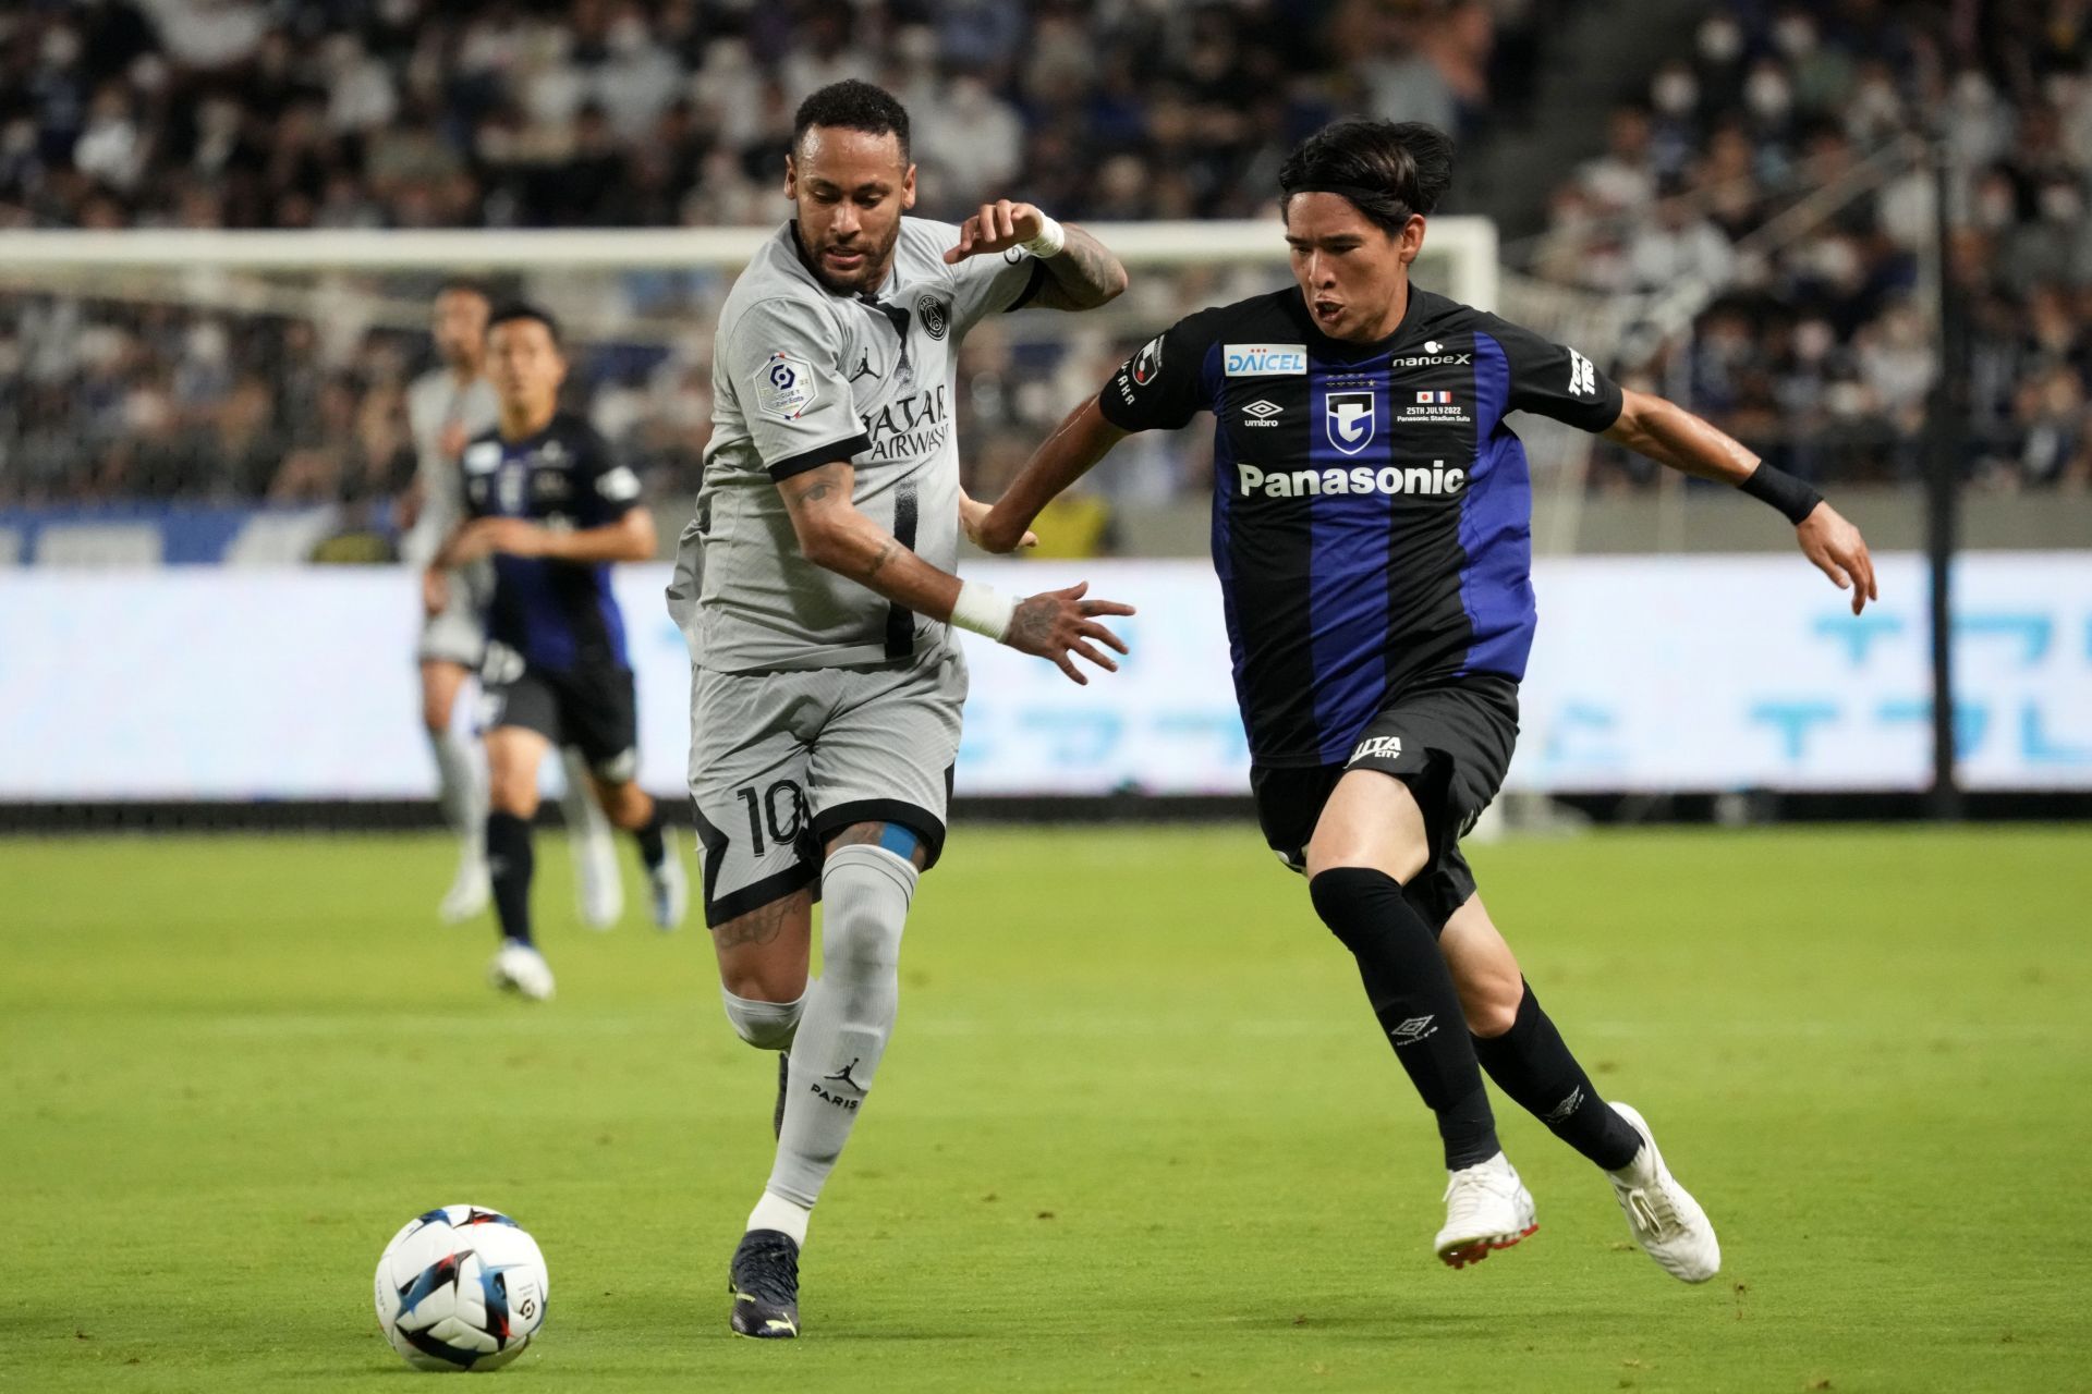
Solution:
<svg viewBox="0 0 2092 1394">
<path fill-rule="evenodd" d="M 638 477 L 571 412 L 521 441 L 487 431 L 464 447 L 460 464 L 473 518 L 582 531 L 617 522 L 640 502 Z M 632 667 L 609 562 L 496 554 L 487 640 L 538 669 Z"/>
</svg>

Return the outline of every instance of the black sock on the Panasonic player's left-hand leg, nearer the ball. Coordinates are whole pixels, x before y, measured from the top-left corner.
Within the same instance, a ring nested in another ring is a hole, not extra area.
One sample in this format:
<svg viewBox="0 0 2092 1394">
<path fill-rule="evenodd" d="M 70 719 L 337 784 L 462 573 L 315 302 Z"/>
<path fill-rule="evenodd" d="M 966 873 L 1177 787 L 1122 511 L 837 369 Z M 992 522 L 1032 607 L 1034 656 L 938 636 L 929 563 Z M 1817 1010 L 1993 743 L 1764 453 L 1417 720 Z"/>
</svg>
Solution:
<svg viewBox="0 0 2092 1394">
<path fill-rule="evenodd" d="M 1466 1018 L 1460 1016 L 1460 995 L 1431 928 L 1395 878 L 1372 867 L 1322 872 L 1308 882 L 1308 895 L 1322 924 L 1358 959 L 1366 1001 L 1395 1047 L 1395 1060 L 1437 1114 L 1446 1168 L 1487 1162 L 1500 1149 L 1496 1120 Z"/>
</svg>

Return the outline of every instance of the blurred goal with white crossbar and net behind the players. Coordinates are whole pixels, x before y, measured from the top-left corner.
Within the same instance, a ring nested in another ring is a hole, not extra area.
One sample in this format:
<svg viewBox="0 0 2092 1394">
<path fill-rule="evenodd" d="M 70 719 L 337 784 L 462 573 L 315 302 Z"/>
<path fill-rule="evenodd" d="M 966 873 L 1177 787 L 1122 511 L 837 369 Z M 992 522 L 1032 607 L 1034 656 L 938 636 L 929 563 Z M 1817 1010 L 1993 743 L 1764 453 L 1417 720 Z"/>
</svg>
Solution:
<svg viewBox="0 0 2092 1394">
<path fill-rule="evenodd" d="M 960 439 L 992 495 L 1140 341 L 1203 305 L 1287 284 L 1274 222 L 1096 232 L 1134 272 L 1098 313 L 1008 316 L 969 336 Z M 446 276 L 550 309 L 571 405 L 632 460 L 657 508 L 695 493 L 711 330 L 764 228 L 626 232 L 0 234 L 0 562 L 377 560 L 412 474 L 406 387 L 433 366 Z M 1431 224 L 1420 284 L 1494 305 L 1487 219 Z M 1201 431 L 1140 441 L 1090 485 L 1117 510 L 1205 491 Z M 172 508 L 176 527 L 126 522 Z M 266 518 L 226 522 L 232 510 Z M 79 510 L 44 529 L 50 510 Z M 230 552 L 211 548 L 211 516 Z M 667 520 L 667 518 L 665 518 Z M 48 535 L 46 535 L 48 533 Z M 341 541 L 343 537 L 360 541 Z"/>
</svg>

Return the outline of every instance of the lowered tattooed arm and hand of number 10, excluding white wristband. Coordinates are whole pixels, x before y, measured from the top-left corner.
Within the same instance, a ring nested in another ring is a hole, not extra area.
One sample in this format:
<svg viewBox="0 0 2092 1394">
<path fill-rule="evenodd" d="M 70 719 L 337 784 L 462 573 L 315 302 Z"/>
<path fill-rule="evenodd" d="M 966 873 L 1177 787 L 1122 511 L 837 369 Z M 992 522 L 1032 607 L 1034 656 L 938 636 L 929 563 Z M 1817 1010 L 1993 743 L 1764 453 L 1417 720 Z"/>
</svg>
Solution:
<svg viewBox="0 0 2092 1394">
<path fill-rule="evenodd" d="M 837 460 L 778 481 L 799 554 L 916 614 L 964 625 L 967 583 L 931 566 L 893 533 L 864 516 L 851 499 L 856 474 L 851 464 Z M 1027 596 L 1015 604 L 1002 631 L 990 637 L 1017 652 L 1046 658 L 1077 683 L 1090 679 L 1075 667 L 1071 654 L 1117 673 L 1119 665 L 1098 644 L 1123 654 L 1125 642 L 1096 617 L 1132 614 L 1134 608 L 1115 600 L 1086 600 L 1086 591 L 1088 585 L 1073 585 Z"/>
</svg>

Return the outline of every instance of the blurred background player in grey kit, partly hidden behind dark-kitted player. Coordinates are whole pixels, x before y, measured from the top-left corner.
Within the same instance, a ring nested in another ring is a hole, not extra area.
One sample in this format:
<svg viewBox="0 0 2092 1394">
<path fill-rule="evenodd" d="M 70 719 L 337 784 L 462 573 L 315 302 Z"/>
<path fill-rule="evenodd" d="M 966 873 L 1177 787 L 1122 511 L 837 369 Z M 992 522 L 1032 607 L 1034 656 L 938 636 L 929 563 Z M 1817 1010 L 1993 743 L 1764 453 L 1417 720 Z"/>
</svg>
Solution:
<svg viewBox="0 0 2092 1394">
<path fill-rule="evenodd" d="M 429 334 L 439 368 L 425 372 L 408 389 L 408 426 L 414 433 L 418 468 L 406 499 L 408 554 L 429 558 L 464 516 L 464 472 L 458 458 L 464 443 L 492 431 L 498 418 L 494 385 L 485 378 L 487 311 L 483 286 L 469 280 L 446 282 L 435 293 Z M 444 895 L 444 920 L 458 924 L 487 907 L 487 788 L 479 757 L 452 725 L 458 692 L 479 669 L 487 635 L 483 610 L 494 587 L 487 562 L 444 575 L 441 594 L 423 587 L 425 619 L 420 644 L 420 721 L 435 754 L 444 819 L 458 834 L 458 876 Z M 573 849 L 582 920 L 598 930 L 617 924 L 626 909 L 617 878 L 611 826 L 588 790 L 588 763 L 579 750 L 563 750 L 567 788 L 567 844 Z"/>
</svg>

